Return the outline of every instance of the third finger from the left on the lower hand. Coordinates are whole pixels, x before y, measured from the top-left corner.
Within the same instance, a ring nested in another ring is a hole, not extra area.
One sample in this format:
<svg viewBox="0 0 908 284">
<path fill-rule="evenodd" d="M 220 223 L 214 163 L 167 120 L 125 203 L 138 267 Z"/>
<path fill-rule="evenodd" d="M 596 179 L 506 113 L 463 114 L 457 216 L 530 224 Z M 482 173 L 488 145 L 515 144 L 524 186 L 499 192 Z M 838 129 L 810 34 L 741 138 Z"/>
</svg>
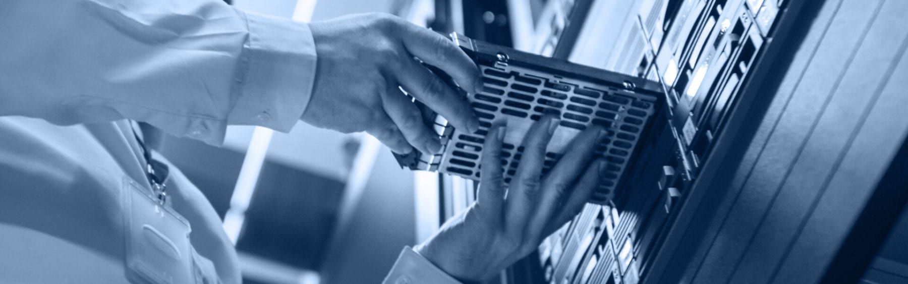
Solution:
<svg viewBox="0 0 908 284">
<path fill-rule="evenodd" d="M 595 164 L 590 165 L 589 161 L 592 160 L 596 147 L 604 134 L 603 127 L 593 126 L 581 132 L 574 138 L 574 141 L 570 142 L 568 151 L 542 181 L 542 188 L 545 190 L 539 193 L 538 210 L 529 223 L 530 232 L 538 233 L 545 229 L 548 221 L 555 214 L 558 204 L 577 181 L 580 172 L 587 170 L 590 166 L 596 166 Z"/>
</svg>

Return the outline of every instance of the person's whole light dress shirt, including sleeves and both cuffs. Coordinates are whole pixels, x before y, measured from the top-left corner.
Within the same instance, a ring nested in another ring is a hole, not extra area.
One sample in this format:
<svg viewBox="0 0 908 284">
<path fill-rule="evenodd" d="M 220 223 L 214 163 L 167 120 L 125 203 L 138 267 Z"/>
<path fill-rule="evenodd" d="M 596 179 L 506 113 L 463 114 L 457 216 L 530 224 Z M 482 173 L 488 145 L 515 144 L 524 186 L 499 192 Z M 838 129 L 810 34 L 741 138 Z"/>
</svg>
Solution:
<svg viewBox="0 0 908 284">
<path fill-rule="evenodd" d="M 120 283 L 124 182 L 151 191 L 126 120 L 218 145 L 287 132 L 311 97 L 307 24 L 220 0 L 0 1 L 0 281 Z M 25 116 L 25 117 L 16 117 Z M 211 204 L 174 167 L 200 282 L 241 281 Z M 410 248 L 390 283 L 455 283 Z"/>
</svg>

